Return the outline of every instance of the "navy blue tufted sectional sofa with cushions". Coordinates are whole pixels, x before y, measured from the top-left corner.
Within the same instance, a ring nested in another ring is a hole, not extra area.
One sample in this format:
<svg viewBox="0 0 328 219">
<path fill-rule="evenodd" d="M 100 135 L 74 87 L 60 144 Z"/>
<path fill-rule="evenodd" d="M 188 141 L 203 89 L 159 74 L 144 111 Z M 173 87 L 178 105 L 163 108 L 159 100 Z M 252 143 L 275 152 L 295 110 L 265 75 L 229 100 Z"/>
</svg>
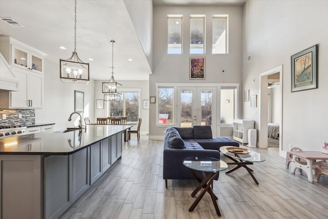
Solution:
<svg viewBox="0 0 328 219">
<path fill-rule="evenodd" d="M 182 161 L 191 156 L 210 156 L 220 159 L 221 146 L 239 147 L 239 143 L 228 137 L 213 137 L 211 126 L 192 128 L 168 127 L 163 145 L 163 179 L 191 180 L 194 177 Z M 215 180 L 218 179 L 218 176 Z"/>
</svg>

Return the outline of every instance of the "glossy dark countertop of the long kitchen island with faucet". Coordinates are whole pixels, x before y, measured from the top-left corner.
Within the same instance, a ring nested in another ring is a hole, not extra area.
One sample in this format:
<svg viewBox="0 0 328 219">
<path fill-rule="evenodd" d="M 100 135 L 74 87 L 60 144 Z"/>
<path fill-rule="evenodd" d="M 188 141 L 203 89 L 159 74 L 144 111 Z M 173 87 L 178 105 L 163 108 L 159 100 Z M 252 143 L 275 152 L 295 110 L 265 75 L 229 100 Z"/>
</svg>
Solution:
<svg viewBox="0 0 328 219">
<path fill-rule="evenodd" d="M 96 125 L 71 132 L 41 132 L 0 139 L 0 154 L 72 154 L 132 125 Z M 63 130 L 64 131 L 64 130 Z"/>
</svg>

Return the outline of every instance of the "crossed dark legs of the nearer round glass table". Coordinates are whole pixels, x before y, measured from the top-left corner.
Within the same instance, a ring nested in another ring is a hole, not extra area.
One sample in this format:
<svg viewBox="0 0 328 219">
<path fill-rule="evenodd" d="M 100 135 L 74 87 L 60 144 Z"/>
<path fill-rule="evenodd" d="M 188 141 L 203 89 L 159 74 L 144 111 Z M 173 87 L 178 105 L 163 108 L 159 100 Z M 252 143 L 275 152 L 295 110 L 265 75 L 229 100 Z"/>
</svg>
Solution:
<svg viewBox="0 0 328 219">
<path fill-rule="evenodd" d="M 194 203 L 189 208 L 189 211 L 193 211 L 196 206 L 198 205 L 201 198 L 204 196 L 206 192 L 208 192 L 211 195 L 211 199 L 216 211 L 216 214 L 221 216 L 219 207 L 217 205 L 216 200 L 218 199 L 217 196 L 213 193 L 213 190 L 211 188 L 211 185 L 213 185 L 213 180 L 219 174 L 219 172 L 210 172 L 208 175 L 205 174 L 205 172 L 201 172 L 201 175 L 203 177 L 203 180 L 196 174 L 196 172 L 192 169 L 188 169 L 191 174 L 196 178 L 196 180 L 199 182 L 199 185 L 196 187 L 196 189 L 191 193 L 192 197 L 195 197 L 196 193 L 203 188 L 203 190 L 200 192 L 199 196 L 196 198 Z"/>
</svg>

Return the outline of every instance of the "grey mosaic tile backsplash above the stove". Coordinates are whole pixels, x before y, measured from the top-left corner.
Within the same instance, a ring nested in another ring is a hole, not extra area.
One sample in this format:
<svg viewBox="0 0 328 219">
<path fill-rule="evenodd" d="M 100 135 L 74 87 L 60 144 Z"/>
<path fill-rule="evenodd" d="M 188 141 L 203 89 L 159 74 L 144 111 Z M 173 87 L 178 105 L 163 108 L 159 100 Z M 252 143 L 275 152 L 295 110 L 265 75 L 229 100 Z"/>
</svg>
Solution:
<svg viewBox="0 0 328 219">
<path fill-rule="evenodd" d="M 3 115 L 6 119 L 3 120 Z M 22 116 L 19 116 L 22 115 Z M 0 109 L 0 126 L 32 126 L 35 125 L 34 109 Z"/>
</svg>

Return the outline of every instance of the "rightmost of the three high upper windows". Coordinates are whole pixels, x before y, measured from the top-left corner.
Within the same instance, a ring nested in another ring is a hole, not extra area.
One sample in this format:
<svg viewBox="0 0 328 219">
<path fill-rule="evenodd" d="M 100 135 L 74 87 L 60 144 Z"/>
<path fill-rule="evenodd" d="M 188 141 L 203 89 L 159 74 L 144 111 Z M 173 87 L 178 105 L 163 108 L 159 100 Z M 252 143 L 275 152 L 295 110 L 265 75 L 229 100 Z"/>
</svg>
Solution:
<svg viewBox="0 0 328 219">
<path fill-rule="evenodd" d="M 213 15 L 212 54 L 228 54 L 228 15 Z"/>
</svg>

